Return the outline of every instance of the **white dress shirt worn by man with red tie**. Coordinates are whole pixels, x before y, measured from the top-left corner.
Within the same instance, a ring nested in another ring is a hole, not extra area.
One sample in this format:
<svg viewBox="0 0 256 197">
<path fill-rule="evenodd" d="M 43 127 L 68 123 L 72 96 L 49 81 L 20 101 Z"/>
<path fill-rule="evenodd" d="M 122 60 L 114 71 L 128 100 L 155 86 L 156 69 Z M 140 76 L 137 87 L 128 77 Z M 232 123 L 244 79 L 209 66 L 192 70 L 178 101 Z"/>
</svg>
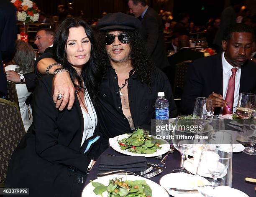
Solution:
<svg viewBox="0 0 256 197">
<path fill-rule="evenodd" d="M 231 69 L 234 68 L 224 57 L 224 53 L 222 53 L 222 67 L 223 67 L 223 99 L 225 100 L 226 94 L 228 91 L 228 81 L 230 76 L 232 75 Z M 233 104 L 233 111 L 236 112 L 236 106 L 238 103 L 239 97 L 239 88 L 240 88 L 240 78 L 241 78 L 241 67 L 236 67 L 236 83 L 235 83 L 235 92 L 234 92 L 234 104 Z M 220 110 L 220 114 L 222 114 L 223 108 Z"/>
</svg>

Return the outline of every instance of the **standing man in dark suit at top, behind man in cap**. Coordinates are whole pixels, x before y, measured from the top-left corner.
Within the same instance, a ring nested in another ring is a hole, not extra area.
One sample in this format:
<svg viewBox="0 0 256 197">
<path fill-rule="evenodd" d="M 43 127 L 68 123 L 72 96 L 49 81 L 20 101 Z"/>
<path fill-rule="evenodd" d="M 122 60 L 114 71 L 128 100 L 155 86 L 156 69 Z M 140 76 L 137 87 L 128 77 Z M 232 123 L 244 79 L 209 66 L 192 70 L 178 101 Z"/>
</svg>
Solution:
<svg viewBox="0 0 256 197">
<path fill-rule="evenodd" d="M 141 20 L 146 31 L 146 50 L 158 68 L 169 65 L 164 48 L 164 27 L 155 10 L 148 7 L 146 0 L 129 0 L 130 13 Z"/>
</svg>

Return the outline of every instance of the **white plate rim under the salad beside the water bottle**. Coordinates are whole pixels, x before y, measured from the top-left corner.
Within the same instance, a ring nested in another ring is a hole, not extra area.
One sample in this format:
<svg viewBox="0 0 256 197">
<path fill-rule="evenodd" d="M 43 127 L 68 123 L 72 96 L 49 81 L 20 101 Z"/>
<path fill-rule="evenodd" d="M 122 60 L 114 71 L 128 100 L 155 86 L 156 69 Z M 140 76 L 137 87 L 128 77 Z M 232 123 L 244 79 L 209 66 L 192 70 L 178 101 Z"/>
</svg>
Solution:
<svg viewBox="0 0 256 197">
<path fill-rule="evenodd" d="M 170 144 L 165 141 L 164 139 L 161 139 L 162 141 L 164 141 L 164 144 L 161 144 L 160 147 L 162 147 L 161 149 L 157 149 L 156 152 L 152 153 L 152 154 L 139 154 L 139 153 L 132 153 L 132 152 L 128 152 L 127 150 L 121 150 L 120 146 L 118 144 L 118 140 L 124 139 L 128 136 L 130 136 L 131 134 L 123 134 L 123 135 L 119 135 L 119 136 L 115 136 L 113 138 L 109 139 L 109 144 L 110 146 L 112 146 L 112 148 L 114 150 L 116 150 L 117 152 L 126 154 L 126 155 L 131 155 L 131 156 L 144 156 L 144 157 L 155 157 L 155 156 L 159 156 L 161 154 L 165 154 L 166 152 L 169 151 L 170 149 Z M 151 136 L 151 135 L 149 135 Z M 152 136 L 155 138 L 155 136 Z"/>
</svg>

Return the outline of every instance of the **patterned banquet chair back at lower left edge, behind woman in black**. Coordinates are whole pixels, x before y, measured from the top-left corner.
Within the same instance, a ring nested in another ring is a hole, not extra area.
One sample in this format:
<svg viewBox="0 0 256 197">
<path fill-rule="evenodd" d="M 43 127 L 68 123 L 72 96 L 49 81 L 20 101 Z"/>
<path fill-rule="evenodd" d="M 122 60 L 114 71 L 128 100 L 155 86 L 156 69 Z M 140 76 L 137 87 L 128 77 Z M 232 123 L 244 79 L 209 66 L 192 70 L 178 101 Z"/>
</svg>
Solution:
<svg viewBox="0 0 256 197">
<path fill-rule="evenodd" d="M 10 158 L 26 131 L 18 104 L 0 98 L 0 114 L 0 187 L 4 187 Z"/>
</svg>

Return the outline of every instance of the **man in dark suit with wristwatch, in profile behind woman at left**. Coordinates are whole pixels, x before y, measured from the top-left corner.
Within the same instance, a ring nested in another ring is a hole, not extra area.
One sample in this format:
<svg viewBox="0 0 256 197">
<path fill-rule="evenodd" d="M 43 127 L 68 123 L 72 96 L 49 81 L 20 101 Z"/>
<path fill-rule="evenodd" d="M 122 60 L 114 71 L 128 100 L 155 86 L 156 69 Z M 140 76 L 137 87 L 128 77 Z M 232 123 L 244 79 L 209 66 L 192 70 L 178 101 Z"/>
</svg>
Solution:
<svg viewBox="0 0 256 197">
<path fill-rule="evenodd" d="M 54 30 L 52 29 L 41 29 L 38 30 L 36 34 L 36 40 L 35 44 L 38 47 L 38 50 L 42 54 L 40 57 L 36 58 L 35 62 L 35 72 L 32 73 L 26 73 L 23 75 L 19 75 L 18 73 L 15 73 L 15 71 L 6 71 L 7 79 L 9 81 L 13 81 L 14 83 L 26 83 L 26 86 L 28 88 L 28 91 L 33 91 L 33 89 L 36 87 L 36 82 L 37 82 L 37 71 L 36 67 L 38 62 L 45 58 L 53 58 L 53 51 L 52 51 L 52 46 L 53 46 L 53 41 L 54 41 Z M 21 76 L 23 80 L 21 81 Z"/>
</svg>

